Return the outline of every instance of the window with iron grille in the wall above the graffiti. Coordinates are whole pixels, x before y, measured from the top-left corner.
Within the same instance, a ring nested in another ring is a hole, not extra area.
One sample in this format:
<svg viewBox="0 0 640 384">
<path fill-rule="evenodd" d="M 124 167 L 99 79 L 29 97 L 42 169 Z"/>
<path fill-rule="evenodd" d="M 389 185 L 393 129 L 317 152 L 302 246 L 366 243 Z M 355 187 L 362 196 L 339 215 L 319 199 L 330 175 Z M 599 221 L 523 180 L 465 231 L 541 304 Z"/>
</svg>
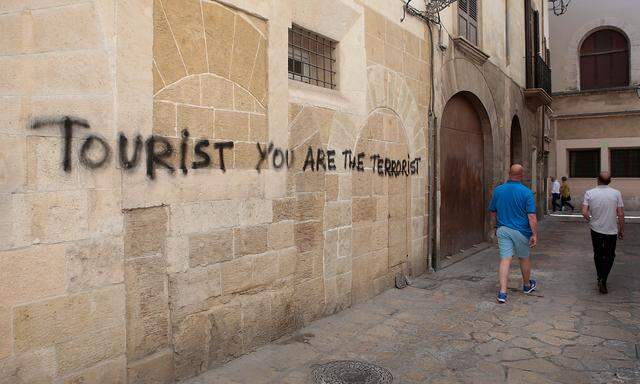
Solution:
<svg viewBox="0 0 640 384">
<path fill-rule="evenodd" d="M 336 88 L 336 42 L 297 25 L 289 29 L 289 78 Z"/>
</svg>

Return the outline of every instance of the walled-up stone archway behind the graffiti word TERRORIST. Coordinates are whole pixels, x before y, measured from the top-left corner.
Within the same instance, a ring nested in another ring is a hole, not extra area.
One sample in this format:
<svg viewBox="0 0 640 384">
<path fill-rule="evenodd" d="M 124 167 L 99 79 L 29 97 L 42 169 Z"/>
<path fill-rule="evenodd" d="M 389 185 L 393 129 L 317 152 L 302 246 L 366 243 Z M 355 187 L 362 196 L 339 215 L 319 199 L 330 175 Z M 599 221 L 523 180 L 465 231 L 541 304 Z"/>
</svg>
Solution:
<svg viewBox="0 0 640 384">
<path fill-rule="evenodd" d="M 402 122 L 390 109 L 378 108 L 367 119 L 354 153 L 407 158 L 409 146 Z M 362 302 L 393 285 L 397 272 L 408 272 L 411 184 L 405 176 L 373 172 L 367 157 L 364 172 L 352 174 L 352 295 Z"/>
</svg>

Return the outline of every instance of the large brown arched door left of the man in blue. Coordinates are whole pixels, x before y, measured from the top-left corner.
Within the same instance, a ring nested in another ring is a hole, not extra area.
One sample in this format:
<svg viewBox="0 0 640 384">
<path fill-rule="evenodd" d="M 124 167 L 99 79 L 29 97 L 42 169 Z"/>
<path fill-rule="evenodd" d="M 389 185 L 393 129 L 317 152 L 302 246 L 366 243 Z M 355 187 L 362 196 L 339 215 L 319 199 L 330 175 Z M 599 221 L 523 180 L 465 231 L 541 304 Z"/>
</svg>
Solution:
<svg viewBox="0 0 640 384">
<path fill-rule="evenodd" d="M 486 237 L 491 129 L 480 100 L 469 92 L 447 102 L 440 131 L 440 257 Z"/>
</svg>

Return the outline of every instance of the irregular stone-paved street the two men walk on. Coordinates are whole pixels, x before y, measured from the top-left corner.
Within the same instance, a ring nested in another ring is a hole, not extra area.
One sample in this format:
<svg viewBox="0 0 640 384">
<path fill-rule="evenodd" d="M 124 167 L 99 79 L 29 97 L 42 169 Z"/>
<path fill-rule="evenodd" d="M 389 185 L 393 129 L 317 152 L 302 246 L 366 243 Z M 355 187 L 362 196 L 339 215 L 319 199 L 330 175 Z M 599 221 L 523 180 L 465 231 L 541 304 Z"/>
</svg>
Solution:
<svg viewBox="0 0 640 384">
<path fill-rule="evenodd" d="M 597 293 L 584 224 L 546 220 L 534 251 L 534 295 L 495 302 L 491 248 L 403 290 L 313 322 L 189 384 L 312 383 L 314 364 L 337 359 L 389 369 L 394 383 L 640 383 L 640 224 L 627 228 Z"/>
</svg>

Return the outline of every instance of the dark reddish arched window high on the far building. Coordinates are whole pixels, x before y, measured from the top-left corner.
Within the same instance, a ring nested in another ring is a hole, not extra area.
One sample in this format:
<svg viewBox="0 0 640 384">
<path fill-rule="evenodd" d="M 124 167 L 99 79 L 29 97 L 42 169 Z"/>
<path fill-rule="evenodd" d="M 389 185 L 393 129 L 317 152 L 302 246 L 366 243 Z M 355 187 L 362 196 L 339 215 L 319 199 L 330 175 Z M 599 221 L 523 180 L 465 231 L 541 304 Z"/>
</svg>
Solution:
<svg viewBox="0 0 640 384">
<path fill-rule="evenodd" d="M 620 32 L 601 29 L 580 47 L 580 88 L 599 89 L 629 85 L 629 42 Z"/>
</svg>

